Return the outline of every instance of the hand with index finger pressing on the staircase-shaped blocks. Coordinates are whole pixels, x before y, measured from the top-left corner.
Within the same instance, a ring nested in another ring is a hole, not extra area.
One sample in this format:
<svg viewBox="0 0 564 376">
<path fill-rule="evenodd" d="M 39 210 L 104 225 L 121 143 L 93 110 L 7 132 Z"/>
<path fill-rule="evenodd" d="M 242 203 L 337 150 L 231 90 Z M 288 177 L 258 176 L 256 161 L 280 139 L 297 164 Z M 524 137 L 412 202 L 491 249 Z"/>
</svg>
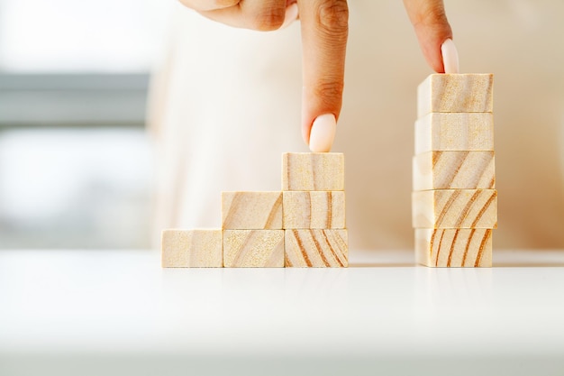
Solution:
<svg viewBox="0 0 564 376">
<path fill-rule="evenodd" d="M 344 86 L 349 34 L 346 0 L 180 1 L 214 21 L 259 31 L 277 30 L 299 13 L 304 83 L 302 135 L 312 151 L 331 150 Z M 314 136 L 311 142 L 310 134 Z"/>
</svg>

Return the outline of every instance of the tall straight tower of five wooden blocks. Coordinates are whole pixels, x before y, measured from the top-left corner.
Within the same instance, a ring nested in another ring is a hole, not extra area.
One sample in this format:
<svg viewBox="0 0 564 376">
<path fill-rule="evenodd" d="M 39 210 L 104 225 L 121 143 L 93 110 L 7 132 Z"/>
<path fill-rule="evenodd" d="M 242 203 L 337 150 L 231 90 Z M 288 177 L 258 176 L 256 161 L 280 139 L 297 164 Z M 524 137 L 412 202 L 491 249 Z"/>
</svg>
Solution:
<svg viewBox="0 0 564 376">
<path fill-rule="evenodd" d="M 417 89 L 415 255 L 432 267 L 488 267 L 497 227 L 493 75 L 434 74 Z"/>
</svg>

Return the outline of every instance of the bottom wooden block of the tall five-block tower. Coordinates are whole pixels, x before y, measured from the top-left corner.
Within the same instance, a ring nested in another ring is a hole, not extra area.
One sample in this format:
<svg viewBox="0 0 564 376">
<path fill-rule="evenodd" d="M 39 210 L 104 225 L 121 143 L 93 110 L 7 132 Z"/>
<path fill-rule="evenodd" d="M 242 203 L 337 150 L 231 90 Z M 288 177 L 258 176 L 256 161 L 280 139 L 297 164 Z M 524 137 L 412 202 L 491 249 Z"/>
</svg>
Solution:
<svg viewBox="0 0 564 376">
<path fill-rule="evenodd" d="M 417 228 L 417 262 L 432 267 L 490 267 L 492 232 L 487 228 Z"/>
</svg>

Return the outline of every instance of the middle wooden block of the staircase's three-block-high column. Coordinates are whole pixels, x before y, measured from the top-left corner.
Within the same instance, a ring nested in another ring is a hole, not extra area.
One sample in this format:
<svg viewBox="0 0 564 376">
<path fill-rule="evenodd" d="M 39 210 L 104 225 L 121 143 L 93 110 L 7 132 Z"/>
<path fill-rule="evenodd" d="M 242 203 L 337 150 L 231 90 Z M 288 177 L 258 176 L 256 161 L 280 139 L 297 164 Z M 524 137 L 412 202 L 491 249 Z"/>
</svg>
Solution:
<svg viewBox="0 0 564 376">
<path fill-rule="evenodd" d="M 345 192 L 285 191 L 284 228 L 345 228 Z"/>
</svg>

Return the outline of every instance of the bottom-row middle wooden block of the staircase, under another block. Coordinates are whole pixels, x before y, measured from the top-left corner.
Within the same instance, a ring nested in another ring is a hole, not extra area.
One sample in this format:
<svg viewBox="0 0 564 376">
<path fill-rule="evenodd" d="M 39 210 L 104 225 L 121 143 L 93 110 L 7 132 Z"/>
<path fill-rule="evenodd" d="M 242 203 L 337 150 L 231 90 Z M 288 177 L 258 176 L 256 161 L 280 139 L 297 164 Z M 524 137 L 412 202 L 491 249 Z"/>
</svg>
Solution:
<svg viewBox="0 0 564 376">
<path fill-rule="evenodd" d="M 284 230 L 223 230 L 225 268 L 283 268 Z"/>
</svg>

